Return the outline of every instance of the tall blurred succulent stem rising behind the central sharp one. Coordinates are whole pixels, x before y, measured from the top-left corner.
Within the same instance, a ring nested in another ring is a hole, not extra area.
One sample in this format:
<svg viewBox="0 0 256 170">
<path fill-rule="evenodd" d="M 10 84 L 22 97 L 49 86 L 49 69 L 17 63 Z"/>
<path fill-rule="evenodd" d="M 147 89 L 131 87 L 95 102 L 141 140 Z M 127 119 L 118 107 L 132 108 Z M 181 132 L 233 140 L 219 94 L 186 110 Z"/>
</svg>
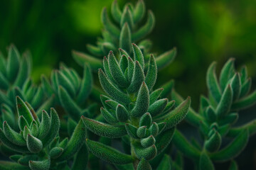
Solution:
<svg viewBox="0 0 256 170">
<path fill-rule="evenodd" d="M 120 10 L 117 1 L 113 1 L 111 6 L 112 18 L 114 23 L 107 16 L 107 8 L 102 10 L 102 37 L 98 38 L 97 46 L 87 45 L 87 50 L 92 55 L 82 52 L 73 51 L 73 57 L 78 64 L 83 65 L 85 62 L 90 63 L 93 70 L 102 68 L 102 56 L 106 56 L 110 50 L 117 52 L 119 47 L 132 54 L 131 43 L 135 42 L 142 49 L 145 62 L 149 61 L 149 50 L 151 48 L 150 40 L 142 40 L 154 28 L 154 14 L 149 11 L 146 23 L 141 26 L 140 21 L 144 18 L 146 9 L 144 1 L 139 0 L 136 6 L 126 4 L 123 10 Z M 158 69 L 168 66 L 176 56 L 176 48 L 164 52 L 156 57 Z"/>
</svg>

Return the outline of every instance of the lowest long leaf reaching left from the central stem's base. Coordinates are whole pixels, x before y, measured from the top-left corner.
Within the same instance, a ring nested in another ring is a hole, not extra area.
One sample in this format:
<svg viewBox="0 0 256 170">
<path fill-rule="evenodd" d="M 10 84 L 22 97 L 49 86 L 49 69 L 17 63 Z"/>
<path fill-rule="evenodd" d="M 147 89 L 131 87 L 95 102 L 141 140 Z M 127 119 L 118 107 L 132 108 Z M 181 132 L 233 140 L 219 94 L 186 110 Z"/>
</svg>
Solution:
<svg viewBox="0 0 256 170">
<path fill-rule="evenodd" d="M 104 145 L 100 142 L 86 140 L 87 148 L 96 157 L 103 159 L 110 164 L 129 164 L 133 162 L 133 158 L 128 154 L 123 154 L 112 147 Z"/>
</svg>

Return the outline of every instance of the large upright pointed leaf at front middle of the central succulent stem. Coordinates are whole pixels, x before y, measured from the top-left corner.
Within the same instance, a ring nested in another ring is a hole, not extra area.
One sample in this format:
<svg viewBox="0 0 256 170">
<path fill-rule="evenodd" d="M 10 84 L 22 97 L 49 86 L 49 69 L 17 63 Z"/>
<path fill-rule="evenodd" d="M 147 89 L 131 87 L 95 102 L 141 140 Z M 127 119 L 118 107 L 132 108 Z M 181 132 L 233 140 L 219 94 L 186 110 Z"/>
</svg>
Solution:
<svg viewBox="0 0 256 170">
<path fill-rule="evenodd" d="M 139 89 L 137 101 L 134 108 L 131 111 L 131 115 L 134 117 L 141 117 L 149 108 L 149 89 L 147 88 L 145 82 Z"/>
</svg>

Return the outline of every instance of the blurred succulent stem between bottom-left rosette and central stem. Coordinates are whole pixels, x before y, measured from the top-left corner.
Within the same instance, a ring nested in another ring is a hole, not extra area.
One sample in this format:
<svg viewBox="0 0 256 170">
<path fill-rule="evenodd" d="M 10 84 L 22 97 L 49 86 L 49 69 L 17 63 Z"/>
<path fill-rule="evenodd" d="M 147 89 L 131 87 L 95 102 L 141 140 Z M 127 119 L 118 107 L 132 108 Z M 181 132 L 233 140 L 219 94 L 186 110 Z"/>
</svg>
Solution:
<svg viewBox="0 0 256 170">
<path fill-rule="evenodd" d="M 70 118 L 78 121 L 81 115 L 92 115 L 85 107 L 88 105 L 86 99 L 92 91 L 92 73 L 88 64 L 84 65 L 82 77 L 75 69 L 60 64 L 60 69 L 52 72 L 50 81 L 45 76 L 41 80 L 48 96 L 55 95 L 56 104 L 64 108 Z"/>
</svg>

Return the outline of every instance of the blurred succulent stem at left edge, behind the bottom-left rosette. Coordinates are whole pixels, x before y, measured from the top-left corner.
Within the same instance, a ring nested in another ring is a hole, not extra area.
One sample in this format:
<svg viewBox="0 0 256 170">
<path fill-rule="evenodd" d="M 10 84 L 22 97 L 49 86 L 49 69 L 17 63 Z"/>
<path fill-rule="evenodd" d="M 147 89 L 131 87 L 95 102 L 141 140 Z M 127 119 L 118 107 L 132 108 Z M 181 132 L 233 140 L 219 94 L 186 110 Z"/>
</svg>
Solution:
<svg viewBox="0 0 256 170">
<path fill-rule="evenodd" d="M 36 86 L 31 81 L 31 56 L 29 52 L 20 56 L 14 45 L 8 50 L 7 60 L 0 52 L 0 105 L 1 123 L 8 120 L 9 125 L 17 130 L 16 123 L 16 96 L 31 103 L 36 111 L 50 107 L 53 96 L 46 99 L 42 86 Z M 30 107 L 31 107 L 30 106 Z"/>
</svg>

